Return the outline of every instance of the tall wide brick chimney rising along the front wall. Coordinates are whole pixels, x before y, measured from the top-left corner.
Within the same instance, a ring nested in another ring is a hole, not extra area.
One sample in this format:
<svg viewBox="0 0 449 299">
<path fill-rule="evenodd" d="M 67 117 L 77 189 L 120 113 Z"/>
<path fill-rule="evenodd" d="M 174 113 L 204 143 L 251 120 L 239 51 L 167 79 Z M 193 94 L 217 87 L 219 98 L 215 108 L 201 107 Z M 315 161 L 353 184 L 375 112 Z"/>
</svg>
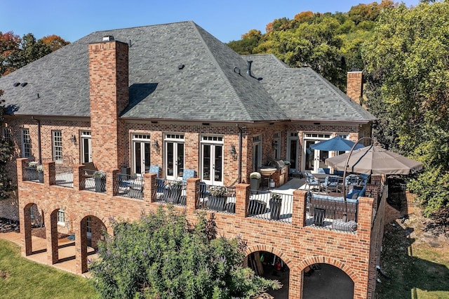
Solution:
<svg viewBox="0 0 449 299">
<path fill-rule="evenodd" d="M 92 161 L 110 171 L 123 165 L 126 136 L 120 113 L 128 106 L 128 44 L 105 36 L 89 44 Z"/>
</svg>

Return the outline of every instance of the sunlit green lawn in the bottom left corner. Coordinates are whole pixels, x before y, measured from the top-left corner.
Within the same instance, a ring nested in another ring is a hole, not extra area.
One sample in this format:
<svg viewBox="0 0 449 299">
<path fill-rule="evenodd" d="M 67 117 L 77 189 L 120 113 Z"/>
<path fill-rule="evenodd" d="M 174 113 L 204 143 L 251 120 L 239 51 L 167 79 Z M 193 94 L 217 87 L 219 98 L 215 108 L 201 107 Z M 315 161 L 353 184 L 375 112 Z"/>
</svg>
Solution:
<svg viewBox="0 0 449 299">
<path fill-rule="evenodd" d="M 98 298 L 88 279 L 22 258 L 1 239 L 0 290 L 1 298 Z"/>
</svg>

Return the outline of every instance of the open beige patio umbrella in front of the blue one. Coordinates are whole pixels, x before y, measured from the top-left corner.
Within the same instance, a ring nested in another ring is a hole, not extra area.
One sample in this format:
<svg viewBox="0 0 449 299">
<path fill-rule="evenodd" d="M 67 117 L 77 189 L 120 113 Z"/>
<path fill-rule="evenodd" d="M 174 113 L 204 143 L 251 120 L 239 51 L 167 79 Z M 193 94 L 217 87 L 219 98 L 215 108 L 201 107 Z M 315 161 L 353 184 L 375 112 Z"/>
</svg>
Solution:
<svg viewBox="0 0 449 299">
<path fill-rule="evenodd" d="M 348 155 L 349 153 L 345 153 L 328 158 L 326 159 L 326 165 L 337 171 L 344 171 Z M 422 169 L 421 162 L 408 159 L 401 156 L 401 154 L 396 154 L 374 145 L 354 150 L 349 157 L 347 165 L 348 172 L 374 175 L 408 175 Z"/>
</svg>

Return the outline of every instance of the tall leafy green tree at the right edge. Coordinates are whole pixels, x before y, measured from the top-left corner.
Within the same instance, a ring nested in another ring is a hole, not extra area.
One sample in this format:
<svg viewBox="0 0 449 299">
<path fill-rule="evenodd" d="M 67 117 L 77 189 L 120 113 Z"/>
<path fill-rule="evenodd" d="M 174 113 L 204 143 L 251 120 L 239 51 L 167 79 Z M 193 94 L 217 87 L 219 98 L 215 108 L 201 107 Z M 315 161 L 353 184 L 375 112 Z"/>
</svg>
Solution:
<svg viewBox="0 0 449 299">
<path fill-rule="evenodd" d="M 363 44 L 367 105 L 380 119 L 375 137 L 423 162 L 426 173 L 410 187 L 426 215 L 449 204 L 448 11 L 448 1 L 385 8 Z"/>
</svg>

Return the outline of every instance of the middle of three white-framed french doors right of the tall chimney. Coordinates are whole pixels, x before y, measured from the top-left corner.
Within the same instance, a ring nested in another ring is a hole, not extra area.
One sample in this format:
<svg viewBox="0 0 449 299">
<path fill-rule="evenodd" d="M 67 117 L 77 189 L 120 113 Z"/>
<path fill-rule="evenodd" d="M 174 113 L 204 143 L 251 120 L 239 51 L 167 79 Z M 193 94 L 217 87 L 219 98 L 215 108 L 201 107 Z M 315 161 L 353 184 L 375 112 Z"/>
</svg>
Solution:
<svg viewBox="0 0 449 299">
<path fill-rule="evenodd" d="M 168 180 L 182 178 L 184 173 L 184 135 L 167 134 L 165 138 L 165 173 Z"/>
</svg>

